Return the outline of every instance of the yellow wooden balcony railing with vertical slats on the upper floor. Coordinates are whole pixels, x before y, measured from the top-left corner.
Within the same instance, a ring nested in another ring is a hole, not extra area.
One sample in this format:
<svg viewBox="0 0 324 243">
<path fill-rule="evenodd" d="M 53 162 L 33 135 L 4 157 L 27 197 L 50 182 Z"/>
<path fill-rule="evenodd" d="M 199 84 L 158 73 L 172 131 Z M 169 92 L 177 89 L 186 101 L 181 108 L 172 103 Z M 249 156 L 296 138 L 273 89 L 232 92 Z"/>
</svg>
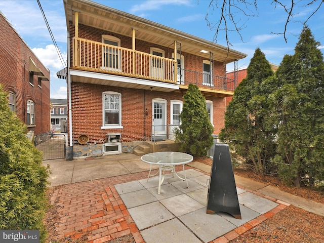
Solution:
<svg viewBox="0 0 324 243">
<path fill-rule="evenodd" d="M 73 38 L 73 67 L 131 77 L 176 83 L 176 60 Z"/>
</svg>

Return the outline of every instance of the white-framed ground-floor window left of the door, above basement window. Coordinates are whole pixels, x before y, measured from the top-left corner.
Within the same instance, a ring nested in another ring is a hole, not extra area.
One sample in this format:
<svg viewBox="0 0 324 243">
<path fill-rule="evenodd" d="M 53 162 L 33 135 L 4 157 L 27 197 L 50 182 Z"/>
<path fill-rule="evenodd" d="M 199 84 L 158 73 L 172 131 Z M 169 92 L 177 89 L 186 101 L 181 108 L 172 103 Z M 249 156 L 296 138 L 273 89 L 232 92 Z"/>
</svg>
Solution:
<svg viewBox="0 0 324 243">
<path fill-rule="evenodd" d="M 121 127 L 121 94 L 103 92 L 103 128 Z"/>
</svg>

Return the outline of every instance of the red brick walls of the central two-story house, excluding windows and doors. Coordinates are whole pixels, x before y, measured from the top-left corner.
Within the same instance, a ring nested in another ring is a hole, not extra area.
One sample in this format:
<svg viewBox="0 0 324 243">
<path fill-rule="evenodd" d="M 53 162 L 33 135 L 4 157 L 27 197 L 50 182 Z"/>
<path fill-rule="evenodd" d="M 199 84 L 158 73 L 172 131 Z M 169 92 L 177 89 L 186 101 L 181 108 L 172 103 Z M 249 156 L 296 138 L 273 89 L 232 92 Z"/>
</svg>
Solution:
<svg viewBox="0 0 324 243">
<path fill-rule="evenodd" d="M 70 57 L 72 58 L 72 37 L 74 26 L 70 23 Z M 79 37 L 92 41 L 101 42 L 103 34 L 115 36 L 120 39 L 121 47 L 132 48 L 132 38 L 105 32 L 101 29 L 88 28 L 79 25 Z M 165 51 L 167 58 L 172 57 L 173 49 L 161 47 L 155 44 L 136 40 L 136 50 L 145 53 L 150 48 L 159 48 Z M 185 69 L 198 72 L 203 71 L 203 58 L 188 53 L 182 53 L 185 59 Z M 72 63 L 72 59 L 71 59 Z M 222 63 L 214 62 L 214 75 L 225 76 L 226 67 Z M 118 92 L 121 94 L 122 126 L 123 129 L 101 129 L 102 127 L 102 93 L 105 91 Z M 167 124 L 170 124 L 170 101 L 182 100 L 183 94 L 171 92 L 161 93 L 137 89 L 109 87 L 101 85 L 90 85 L 84 83 L 71 84 L 72 94 L 72 132 L 73 145 L 77 145 L 77 138 L 86 134 L 89 137 L 88 144 L 98 143 L 106 138 L 107 133 L 121 133 L 122 142 L 143 141 L 150 139 L 152 125 L 152 99 L 160 98 L 167 100 Z M 225 98 L 206 97 L 213 101 L 213 123 L 215 134 L 218 134 L 224 127 L 224 112 L 226 107 Z M 144 103 L 145 100 L 145 103 Z M 147 108 L 148 115 L 145 115 Z M 68 123 L 69 124 L 69 123 Z"/>
</svg>

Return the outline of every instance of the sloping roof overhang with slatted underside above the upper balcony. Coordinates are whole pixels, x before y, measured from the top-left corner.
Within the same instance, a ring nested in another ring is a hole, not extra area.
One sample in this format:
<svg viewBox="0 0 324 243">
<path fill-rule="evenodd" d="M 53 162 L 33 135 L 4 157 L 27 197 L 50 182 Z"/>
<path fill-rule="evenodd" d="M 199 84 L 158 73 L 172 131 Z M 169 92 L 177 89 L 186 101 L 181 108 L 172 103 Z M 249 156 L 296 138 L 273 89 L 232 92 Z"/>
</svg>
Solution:
<svg viewBox="0 0 324 243">
<path fill-rule="evenodd" d="M 74 13 L 78 12 L 78 23 L 94 28 L 111 31 L 132 37 L 136 29 L 136 39 L 173 48 L 174 41 L 181 43 L 181 51 L 227 64 L 245 58 L 247 54 L 227 49 L 224 46 L 207 41 L 194 35 L 125 13 L 89 0 L 64 0 L 67 28 L 74 24 Z M 206 50 L 209 53 L 202 53 Z"/>
</svg>

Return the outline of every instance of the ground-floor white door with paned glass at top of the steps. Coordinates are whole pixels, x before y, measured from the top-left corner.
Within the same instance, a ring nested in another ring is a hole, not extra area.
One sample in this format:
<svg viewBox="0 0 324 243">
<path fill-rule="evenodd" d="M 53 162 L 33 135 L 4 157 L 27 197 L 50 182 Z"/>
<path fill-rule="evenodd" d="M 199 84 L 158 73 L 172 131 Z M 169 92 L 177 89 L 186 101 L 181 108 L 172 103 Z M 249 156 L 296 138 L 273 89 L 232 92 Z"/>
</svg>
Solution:
<svg viewBox="0 0 324 243">
<path fill-rule="evenodd" d="M 167 101 L 153 100 L 153 136 L 154 140 L 161 140 L 167 138 Z"/>
</svg>

